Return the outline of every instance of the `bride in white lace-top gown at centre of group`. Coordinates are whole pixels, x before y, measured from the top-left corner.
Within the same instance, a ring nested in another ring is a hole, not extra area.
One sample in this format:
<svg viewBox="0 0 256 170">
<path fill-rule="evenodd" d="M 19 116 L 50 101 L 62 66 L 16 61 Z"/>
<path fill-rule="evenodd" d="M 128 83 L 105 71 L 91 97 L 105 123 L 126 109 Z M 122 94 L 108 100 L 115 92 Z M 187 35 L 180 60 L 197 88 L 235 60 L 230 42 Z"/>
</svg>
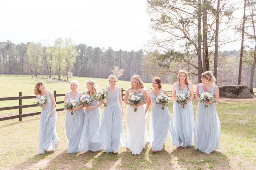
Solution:
<svg viewBox="0 0 256 170">
<path fill-rule="evenodd" d="M 137 94 L 142 93 L 145 96 L 145 102 L 130 106 L 127 102 L 128 95 L 134 92 Z M 126 110 L 127 147 L 132 154 L 140 154 L 145 148 L 145 144 L 148 144 L 149 137 L 143 106 L 148 103 L 148 95 L 139 75 L 132 76 L 131 87 L 126 89 L 124 102 L 128 105 Z M 137 107 L 138 111 L 134 112 L 133 107 Z"/>
</svg>

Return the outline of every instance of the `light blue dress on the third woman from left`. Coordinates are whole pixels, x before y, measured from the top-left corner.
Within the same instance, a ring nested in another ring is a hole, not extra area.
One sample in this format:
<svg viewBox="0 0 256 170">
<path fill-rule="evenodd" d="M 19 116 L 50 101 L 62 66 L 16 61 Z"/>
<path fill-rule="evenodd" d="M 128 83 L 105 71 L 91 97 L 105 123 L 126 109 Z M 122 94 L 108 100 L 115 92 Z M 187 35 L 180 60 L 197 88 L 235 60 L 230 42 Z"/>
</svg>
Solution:
<svg viewBox="0 0 256 170">
<path fill-rule="evenodd" d="M 86 93 L 86 92 L 85 92 Z M 91 97 L 92 98 L 92 97 Z M 92 99 L 92 103 L 89 106 L 99 104 L 98 100 Z M 81 134 L 80 152 L 87 151 L 100 151 L 101 144 L 95 143 L 92 140 L 93 136 L 99 132 L 100 129 L 100 107 L 92 108 L 91 110 L 84 111 L 84 125 Z"/>
</svg>

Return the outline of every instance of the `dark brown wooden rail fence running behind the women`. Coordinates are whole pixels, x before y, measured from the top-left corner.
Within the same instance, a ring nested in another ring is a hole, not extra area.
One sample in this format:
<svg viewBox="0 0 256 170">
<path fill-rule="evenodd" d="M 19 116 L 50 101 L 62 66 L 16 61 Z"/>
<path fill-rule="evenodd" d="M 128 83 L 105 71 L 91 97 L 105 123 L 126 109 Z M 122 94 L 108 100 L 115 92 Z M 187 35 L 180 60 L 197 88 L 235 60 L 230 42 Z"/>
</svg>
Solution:
<svg viewBox="0 0 256 170">
<path fill-rule="evenodd" d="M 121 90 L 122 93 L 122 100 L 124 100 L 124 96 L 125 96 L 125 90 Z M 167 90 L 168 96 L 169 98 L 172 97 L 172 90 Z M 194 92 L 195 95 L 196 92 Z M 255 95 L 256 92 L 254 92 Z M 57 94 L 57 91 L 54 91 L 54 99 L 56 101 L 56 105 L 57 104 L 62 104 L 64 103 L 64 101 L 57 101 L 57 97 L 62 97 L 65 96 L 65 94 Z M 26 113 L 26 114 L 22 114 L 22 108 L 28 108 L 28 107 L 37 107 L 36 104 L 30 104 L 30 105 L 22 105 L 22 100 L 24 99 L 36 99 L 36 96 L 22 96 L 22 92 L 19 92 L 19 97 L 2 97 L 0 98 L 0 101 L 7 101 L 7 100 L 19 100 L 19 106 L 12 106 L 12 107 L 0 107 L 0 111 L 4 111 L 4 110 L 12 110 L 12 109 L 19 109 L 19 115 L 14 115 L 14 116 L 8 116 L 8 117 L 1 117 L 0 121 L 4 121 L 4 120 L 10 120 L 10 119 L 16 119 L 19 118 L 19 121 L 22 121 L 22 117 L 27 117 L 27 116 L 34 116 L 34 115 L 40 115 L 41 112 L 34 112 L 34 113 Z M 55 107 L 56 107 L 55 105 Z M 59 108 L 57 109 L 58 111 L 62 111 L 64 110 L 64 108 Z"/>
</svg>

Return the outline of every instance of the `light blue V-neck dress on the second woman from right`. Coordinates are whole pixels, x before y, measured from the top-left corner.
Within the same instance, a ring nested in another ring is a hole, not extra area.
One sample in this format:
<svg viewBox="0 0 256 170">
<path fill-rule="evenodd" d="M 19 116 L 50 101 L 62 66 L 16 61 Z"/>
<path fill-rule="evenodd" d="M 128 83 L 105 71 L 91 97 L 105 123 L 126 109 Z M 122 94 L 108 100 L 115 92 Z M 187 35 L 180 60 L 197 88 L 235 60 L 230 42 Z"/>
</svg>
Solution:
<svg viewBox="0 0 256 170">
<path fill-rule="evenodd" d="M 188 84 L 189 89 L 191 85 L 191 83 Z M 187 96 L 189 97 L 190 91 L 187 86 L 183 90 L 180 90 L 179 86 L 175 83 L 174 87 L 176 90 L 176 94 L 183 93 L 184 95 L 186 95 L 186 93 L 188 93 Z M 182 108 L 182 106 L 180 106 L 180 104 L 178 104 L 177 102 L 173 102 L 173 121 L 178 132 L 179 143 L 182 143 L 183 148 L 191 146 L 195 127 L 192 101 L 189 101 L 185 105 L 185 108 Z"/>
</svg>

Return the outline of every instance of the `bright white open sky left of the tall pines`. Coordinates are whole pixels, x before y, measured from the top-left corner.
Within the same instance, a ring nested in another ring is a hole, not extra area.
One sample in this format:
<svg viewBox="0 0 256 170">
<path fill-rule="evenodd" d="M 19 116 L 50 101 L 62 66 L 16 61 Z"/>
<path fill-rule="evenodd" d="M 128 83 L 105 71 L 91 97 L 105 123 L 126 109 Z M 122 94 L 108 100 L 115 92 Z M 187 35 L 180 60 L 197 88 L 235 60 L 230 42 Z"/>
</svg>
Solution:
<svg viewBox="0 0 256 170">
<path fill-rule="evenodd" d="M 1 0 L 0 41 L 75 44 L 118 51 L 144 49 L 147 0 Z"/>
</svg>

